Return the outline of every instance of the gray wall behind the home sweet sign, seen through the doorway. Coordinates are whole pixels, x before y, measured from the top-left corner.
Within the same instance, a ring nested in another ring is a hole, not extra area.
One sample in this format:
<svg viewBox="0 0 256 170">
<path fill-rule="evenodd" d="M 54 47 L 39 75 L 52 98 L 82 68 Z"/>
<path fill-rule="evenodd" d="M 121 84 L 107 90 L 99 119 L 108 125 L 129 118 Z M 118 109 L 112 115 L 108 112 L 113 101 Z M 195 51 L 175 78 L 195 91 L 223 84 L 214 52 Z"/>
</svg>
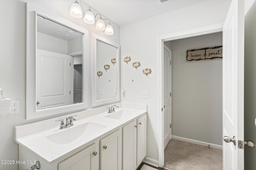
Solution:
<svg viewBox="0 0 256 170">
<path fill-rule="evenodd" d="M 186 62 L 186 50 L 222 45 L 222 32 L 166 43 L 172 51 L 172 135 L 222 145 L 222 59 Z"/>
</svg>

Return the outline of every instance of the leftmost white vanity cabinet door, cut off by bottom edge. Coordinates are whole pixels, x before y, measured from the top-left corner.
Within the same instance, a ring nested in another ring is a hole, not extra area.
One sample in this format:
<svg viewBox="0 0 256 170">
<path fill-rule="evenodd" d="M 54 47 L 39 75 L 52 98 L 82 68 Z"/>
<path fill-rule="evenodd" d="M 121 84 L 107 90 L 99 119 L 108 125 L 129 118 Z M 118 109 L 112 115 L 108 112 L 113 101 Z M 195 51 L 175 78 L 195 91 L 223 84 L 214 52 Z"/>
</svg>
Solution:
<svg viewBox="0 0 256 170">
<path fill-rule="evenodd" d="M 95 170 L 96 169 L 96 144 L 92 144 L 84 150 L 70 156 L 59 163 L 59 170 Z"/>
</svg>

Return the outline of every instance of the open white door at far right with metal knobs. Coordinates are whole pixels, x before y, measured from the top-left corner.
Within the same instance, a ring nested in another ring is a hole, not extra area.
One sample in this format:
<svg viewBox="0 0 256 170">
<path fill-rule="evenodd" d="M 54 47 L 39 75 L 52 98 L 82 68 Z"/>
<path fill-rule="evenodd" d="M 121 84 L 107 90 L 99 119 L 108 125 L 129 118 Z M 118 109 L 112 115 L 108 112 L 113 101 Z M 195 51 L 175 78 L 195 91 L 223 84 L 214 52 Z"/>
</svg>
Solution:
<svg viewBox="0 0 256 170">
<path fill-rule="evenodd" d="M 223 169 L 243 170 L 244 150 L 244 0 L 232 0 L 223 26 Z M 229 140 L 230 141 L 230 140 Z"/>
</svg>

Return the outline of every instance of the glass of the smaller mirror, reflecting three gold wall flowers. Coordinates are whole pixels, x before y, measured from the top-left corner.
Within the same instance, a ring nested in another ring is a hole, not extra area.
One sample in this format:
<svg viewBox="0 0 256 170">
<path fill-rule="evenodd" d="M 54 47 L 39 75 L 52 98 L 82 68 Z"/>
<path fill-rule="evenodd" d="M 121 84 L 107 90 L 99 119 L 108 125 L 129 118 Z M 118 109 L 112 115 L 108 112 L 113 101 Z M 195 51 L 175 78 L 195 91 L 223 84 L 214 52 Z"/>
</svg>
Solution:
<svg viewBox="0 0 256 170">
<path fill-rule="evenodd" d="M 118 49 L 99 41 L 96 42 L 96 100 L 117 97 Z M 102 72 L 99 75 L 99 72 Z"/>
</svg>

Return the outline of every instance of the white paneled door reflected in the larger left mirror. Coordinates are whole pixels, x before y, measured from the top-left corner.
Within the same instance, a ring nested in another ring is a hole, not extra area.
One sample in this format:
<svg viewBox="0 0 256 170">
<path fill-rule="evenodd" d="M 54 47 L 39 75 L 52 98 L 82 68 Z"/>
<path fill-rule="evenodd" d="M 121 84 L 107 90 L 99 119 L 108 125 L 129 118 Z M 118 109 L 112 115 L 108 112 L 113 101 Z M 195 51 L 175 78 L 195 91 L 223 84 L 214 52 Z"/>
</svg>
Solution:
<svg viewBox="0 0 256 170">
<path fill-rule="evenodd" d="M 36 50 L 37 109 L 70 104 L 70 56 Z"/>
</svg>

